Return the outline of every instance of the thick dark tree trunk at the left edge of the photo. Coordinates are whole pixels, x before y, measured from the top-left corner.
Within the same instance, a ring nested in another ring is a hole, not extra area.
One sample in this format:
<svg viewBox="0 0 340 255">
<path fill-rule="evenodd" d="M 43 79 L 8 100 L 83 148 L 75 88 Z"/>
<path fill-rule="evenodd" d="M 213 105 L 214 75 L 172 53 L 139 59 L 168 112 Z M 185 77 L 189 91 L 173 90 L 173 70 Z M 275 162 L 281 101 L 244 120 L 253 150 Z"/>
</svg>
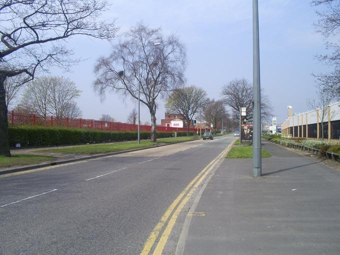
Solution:
<svg viewBox="0 0 340 255">
<path fill-rule="evenodd" d="M 10 156 L 8 141 L 8 119 L 5 99 L 4 81 L 6 75 L 0 73 L 0 155 Z"/>
</svg>

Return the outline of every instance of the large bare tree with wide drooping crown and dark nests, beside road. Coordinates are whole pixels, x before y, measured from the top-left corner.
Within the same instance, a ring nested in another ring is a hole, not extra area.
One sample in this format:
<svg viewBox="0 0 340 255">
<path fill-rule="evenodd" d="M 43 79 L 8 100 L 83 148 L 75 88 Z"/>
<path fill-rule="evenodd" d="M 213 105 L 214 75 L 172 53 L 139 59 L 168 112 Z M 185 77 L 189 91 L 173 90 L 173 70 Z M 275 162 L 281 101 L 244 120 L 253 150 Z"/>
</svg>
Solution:
<svg viewBox="0 0 340 255">
<path fill-rule="evenodd" d="M 157 98 L 183 83 L 185 58 L 185 47 L 175 35 L 164 37 L 160 28 L 139 23 L 112 47 L 109 56 L 97 60 L 93 87 L 103 97 L 109 89 L 138 99 L 140 91 L 140 101 L 150 112 L 154 142 Z"/>
</svg>

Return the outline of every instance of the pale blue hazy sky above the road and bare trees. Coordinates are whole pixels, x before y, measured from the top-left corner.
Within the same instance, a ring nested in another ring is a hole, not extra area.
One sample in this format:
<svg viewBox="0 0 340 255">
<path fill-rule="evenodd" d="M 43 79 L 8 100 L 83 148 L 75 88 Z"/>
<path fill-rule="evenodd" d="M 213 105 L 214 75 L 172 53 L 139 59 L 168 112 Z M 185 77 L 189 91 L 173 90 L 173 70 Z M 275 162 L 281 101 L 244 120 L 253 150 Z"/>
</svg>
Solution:
<svg viewBox="0 0 340 255">
<path fill-rule="evenodd" d="M 110 0 L 103 18 L 119 27 L 117 35 L 140 22 L 161 27 L 164 35 L 175 33 L 187 50 L 186 85 L 196 85 L 211 99 L 221 99 L 221 87 L 234 78 L 252 82 L 252 1 L 251 0 Z M 281 123 L 287 105 L 294 112 L 307 111 L 306 98 L 315 96 L 311 73 L 327 71 L 315 55 L 324 53 L 324 38 L 315 32 L 318 17 L 310 0 L 258 0 L 261 87 L 273 106 L 272 115 Z M 99 119 L 110 114 L 125 122 L 137 106 L 136 100 L 107 94 L 104 101 L 93 92 L 93 66 L 99 56 L 107 56 L 111 42 L 73 37 L 67 44 L 74 57 L 85 59 L 71 72 L 52 69 L 52 75 L 71 78 L 81 96 L 77 103 L 83 118 Z M 157 123 L 164 118 L 164 101 L 158 101 Z M 141 122 L 150 114 L 141 104 Z"/>
</svg>

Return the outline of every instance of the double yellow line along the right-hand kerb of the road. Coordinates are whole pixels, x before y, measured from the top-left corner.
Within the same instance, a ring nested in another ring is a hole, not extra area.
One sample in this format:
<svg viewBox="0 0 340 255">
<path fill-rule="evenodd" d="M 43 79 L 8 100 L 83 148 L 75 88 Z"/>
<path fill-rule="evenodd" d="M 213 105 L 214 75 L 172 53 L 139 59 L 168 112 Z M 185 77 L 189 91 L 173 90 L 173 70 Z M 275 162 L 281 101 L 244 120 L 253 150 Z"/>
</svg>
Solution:
<svg viewBox="0 0 340 255">
<path fill-rule="evenodd" d="M 176 222 L 176 219 L 185 206 L 186 202 L 195 191 L 195 189 L 200 185 L 200 183 L 204 180 L 206 175 L 211 171 L 216 161 L 232 146 L 233 142 L 231 142 L 221 153 L 219 153 L 210 163 L 208 163 L 191 181 L 190 183 L 183 189 L 183 191 L 174 199 L 174 201 L 170 204 L 170 206 L 166 209 L 164 214 L 161 216 L 158 223 L 153 228 L 152 232 L 149 234 L 148 238 L 145 241 L 144 248 L 140 252 L 140 255 L 149 254 L 151 251 L 155 241 L 157 240 L 161 229 L 166 224 L 168 218 L 172 214 L 171 218 L 168 220 L 167 225 L 165 226 L 156 247 L 154 248 L 153 255 L 161 254 L 163 248 L 167 242 L 167 239 L 171 233 L 173 225 Z M 185 195 L 185 196 L 184 196 Z M 184 197 L 184 198 L 183 198 Z M 180 202 L 180 203 L 179 203 Z M 179 205 L 177 206 L 177 204 Z M 177 207 L 176 207 L 177 206 Z"/>
</svg>

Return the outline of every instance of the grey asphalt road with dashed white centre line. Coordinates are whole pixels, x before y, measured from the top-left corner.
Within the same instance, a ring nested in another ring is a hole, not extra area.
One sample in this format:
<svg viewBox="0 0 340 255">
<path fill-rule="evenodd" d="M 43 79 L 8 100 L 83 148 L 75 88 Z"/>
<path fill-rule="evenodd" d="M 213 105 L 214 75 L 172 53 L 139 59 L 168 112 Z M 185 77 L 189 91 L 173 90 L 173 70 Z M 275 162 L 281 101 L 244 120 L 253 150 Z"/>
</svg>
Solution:
<svg viewBox="0 0 340 255">
<path fill-rule="evenodd" d="M 139 254 L 169 205 L 233 139 L 0 176 L 0 254 Z"/>
</svg>

